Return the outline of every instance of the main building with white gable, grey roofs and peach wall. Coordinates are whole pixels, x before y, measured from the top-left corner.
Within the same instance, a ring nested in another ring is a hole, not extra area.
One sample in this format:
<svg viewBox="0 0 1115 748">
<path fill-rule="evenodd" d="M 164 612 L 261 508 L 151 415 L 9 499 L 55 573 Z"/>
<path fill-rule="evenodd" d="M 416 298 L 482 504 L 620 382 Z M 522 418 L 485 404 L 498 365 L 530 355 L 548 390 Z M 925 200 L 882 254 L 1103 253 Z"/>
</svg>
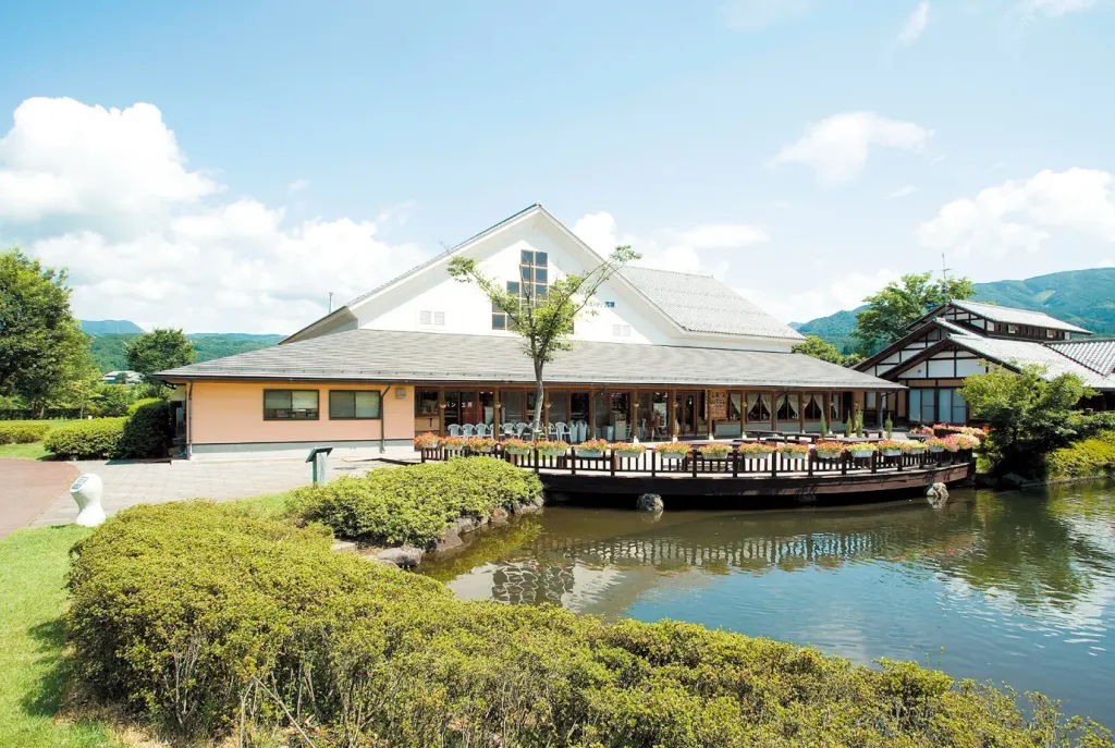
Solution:
<svg viewBox="0 0 1115 748">
<path fill-rule="evenodd" d="M 477 260 L 513 293 L 541 295 L 602 259 L 532 205 L 295 332 L 280 344 L 161 373 L 186 454 L 341 453 L 423 431 L 518 433 L 535 405 L 531 360 L 505 314 L 449 260 Z M 544 416 L 579 441 L 834 430 L 881 424 L 903 385 L 791 351 L 802 336 L 709 275 L 626 268 L 545 368 Z M 508 428 L 510 426 L 510 428 Z"/>
</svg>

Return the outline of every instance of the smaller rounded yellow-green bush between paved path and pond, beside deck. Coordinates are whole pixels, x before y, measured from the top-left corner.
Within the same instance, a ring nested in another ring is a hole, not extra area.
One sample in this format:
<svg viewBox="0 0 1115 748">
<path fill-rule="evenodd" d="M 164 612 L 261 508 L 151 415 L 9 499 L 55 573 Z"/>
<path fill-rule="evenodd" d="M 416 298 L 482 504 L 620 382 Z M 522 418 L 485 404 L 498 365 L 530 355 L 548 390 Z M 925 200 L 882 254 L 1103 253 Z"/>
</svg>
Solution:
<svg viewBox="0 0 1115 748">
<path fill-rule="evenodd" d="M 380 468 L 293 492 L 292 513 L 341 537 L 384 545 L 432 545 L 460 516 L 536 501 L 537 476 L 493 457 Z"/>
</svg>

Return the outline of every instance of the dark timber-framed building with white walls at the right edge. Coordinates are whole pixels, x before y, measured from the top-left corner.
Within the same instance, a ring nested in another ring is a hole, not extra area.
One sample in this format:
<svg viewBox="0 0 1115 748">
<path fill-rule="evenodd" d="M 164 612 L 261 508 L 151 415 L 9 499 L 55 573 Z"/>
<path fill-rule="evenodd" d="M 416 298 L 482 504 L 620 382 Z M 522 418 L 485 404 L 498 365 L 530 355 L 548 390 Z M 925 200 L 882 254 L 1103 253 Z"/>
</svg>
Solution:
<svg viewBox="0 0 1115 748">
<path fill-rule="evenodd" d="M 1097 392 L 1082 407 L 1115 407 L 1115 340 L 1093 339 L 1089 331 L 1041 312 L 975 301 L 932 310 L 856 369 L 909 388 L 882 396 L 894 398 L 883 405 L 894 422 L 968 424 L 971 415 L 958 391 L 963 378 L 1027 365 L 1045 367 L 1049 378 L 1078 376 Z"/>
</svg>

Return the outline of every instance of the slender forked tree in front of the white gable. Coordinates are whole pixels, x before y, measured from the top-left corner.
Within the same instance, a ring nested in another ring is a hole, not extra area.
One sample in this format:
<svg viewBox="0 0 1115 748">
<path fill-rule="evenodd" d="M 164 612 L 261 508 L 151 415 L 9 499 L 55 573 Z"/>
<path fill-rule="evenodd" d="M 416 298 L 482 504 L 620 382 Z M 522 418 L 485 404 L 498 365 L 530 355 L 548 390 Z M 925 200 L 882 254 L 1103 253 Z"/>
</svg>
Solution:
<svg viewBox="0 0 1115 748">
<path fill-rule="evenodd" d="M 573 322 L 582 313 L 595 313 L 593 297 L 620 268 L 640 259 L 630 246 L 617 246 L 608 258 L 583 274 L 568 274 L 554 280 L 544 297 L 534 294 L 534 284 L 524 283 L 527 294 L 507 292 L 502 281 L 482 273 L 472 258 L 454 258 L 449 262 L 449 274 L 462 283 L 475 283 L 491 300 L 493 309 L 503 310 L 507 315 L 507 329 L 523 339 L 523 352 L 534 363 L 534 382 L 537 398 L 534 404 L 533 433 L 542 428 L 542 402 L 545 388 L 542 373 L 554 356 L 571 348 L 570 337 Z"/>
</svg>

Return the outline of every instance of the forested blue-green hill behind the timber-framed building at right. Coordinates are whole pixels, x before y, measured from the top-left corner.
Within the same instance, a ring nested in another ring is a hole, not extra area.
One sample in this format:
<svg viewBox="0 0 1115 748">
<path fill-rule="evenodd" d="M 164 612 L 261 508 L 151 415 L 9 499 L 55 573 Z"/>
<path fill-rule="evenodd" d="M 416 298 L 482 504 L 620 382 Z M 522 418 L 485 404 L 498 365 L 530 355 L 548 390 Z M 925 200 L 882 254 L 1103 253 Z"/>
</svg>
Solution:
<svg viewBox="0 0 1115 748">
<path fill-rule="evenodd" d="M 1025 281 L 977 283 L 975 301 L 1045 312 L 1097 334 L 1115 334 L 1115 268 L 1069 270 Z M 852 330 L 861 309 L 863 307 L 791 327 L 802 334 L 820 336 L 847 353 L 855 349 Z"/>
</svg>

